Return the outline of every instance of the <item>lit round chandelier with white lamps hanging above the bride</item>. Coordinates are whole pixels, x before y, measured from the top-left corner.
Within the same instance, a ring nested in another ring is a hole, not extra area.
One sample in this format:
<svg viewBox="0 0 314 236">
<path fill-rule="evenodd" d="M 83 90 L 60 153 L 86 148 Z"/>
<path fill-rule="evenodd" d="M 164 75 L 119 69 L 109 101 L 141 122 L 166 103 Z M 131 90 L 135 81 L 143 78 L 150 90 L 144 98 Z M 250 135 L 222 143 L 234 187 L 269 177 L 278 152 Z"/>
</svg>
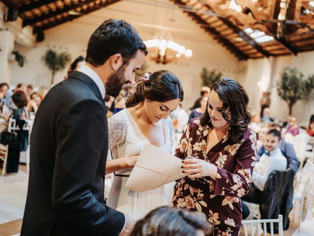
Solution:
<svg viewBox="0 0 314 236">
<path fill-rule="evenodd" d="M 192 57 L 192 50 L 174 42 L 170 32 L 165 29 L 154 39 L 146 40 L 144 43 L 149 49 L 148 58 L 157 63 L 166 64 Z"/>
</svg>

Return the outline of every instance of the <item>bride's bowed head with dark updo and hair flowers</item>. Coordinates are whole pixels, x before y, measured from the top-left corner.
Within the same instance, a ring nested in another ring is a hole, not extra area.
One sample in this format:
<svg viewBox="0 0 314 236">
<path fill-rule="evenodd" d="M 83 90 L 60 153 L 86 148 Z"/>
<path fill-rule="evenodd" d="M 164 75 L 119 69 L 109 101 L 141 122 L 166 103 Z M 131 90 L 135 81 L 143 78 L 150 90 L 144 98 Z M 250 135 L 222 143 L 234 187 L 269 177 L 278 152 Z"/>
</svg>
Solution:
<svg viewBox="0 0 314 236">
<path fill-rule="evenodd" d="M 161 118 L 167 119 L 181 101 L 183 89 L 179 78 L 170 71 L 159 70 L 146 73 L 135 84 L 135 92 L 128 97 L 126 107 L 137 106 L 149 121 L 158 122 Z"/>
</svg>

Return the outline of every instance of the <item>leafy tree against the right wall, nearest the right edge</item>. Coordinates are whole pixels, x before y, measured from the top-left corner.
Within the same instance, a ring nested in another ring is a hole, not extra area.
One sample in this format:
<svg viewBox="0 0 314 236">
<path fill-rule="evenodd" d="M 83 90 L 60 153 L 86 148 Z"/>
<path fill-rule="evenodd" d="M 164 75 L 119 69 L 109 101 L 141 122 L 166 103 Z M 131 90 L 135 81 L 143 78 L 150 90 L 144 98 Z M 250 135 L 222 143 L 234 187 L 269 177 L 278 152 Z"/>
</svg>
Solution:
<svg viewBox="0 0 314 236">
<path fill-rule="evenodd" d="M 314 75 L 304 79 L 304 75 L 296 68 L 284 68 L 278 84 L 278 95 L 288 103 L 289 115 L 298 100 L 310 100 L 314 89 Z"/>
</svg>

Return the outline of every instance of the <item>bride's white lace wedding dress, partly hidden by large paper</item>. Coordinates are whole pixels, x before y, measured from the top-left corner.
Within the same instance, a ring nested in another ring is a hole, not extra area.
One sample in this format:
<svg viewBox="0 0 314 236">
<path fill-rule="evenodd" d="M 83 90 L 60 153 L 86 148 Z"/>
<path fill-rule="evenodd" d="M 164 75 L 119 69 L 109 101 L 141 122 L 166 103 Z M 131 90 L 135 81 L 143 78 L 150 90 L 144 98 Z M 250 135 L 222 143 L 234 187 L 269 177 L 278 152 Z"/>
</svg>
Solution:
<svg viewBox="0 0 314 236">
<path fill-rule="evenodd" d="M 168 117 L 167 120 L 161 119 L 161 122 L 165 143 L 159 148 L 171 153 L 172 120 Z M 108 119 L 108 134 L 108 149 L 111 149 L 113 159 L 138 155 L 148 142 L 127 109 Z M 133 192 L 124 187 L 131 171 L 132 168 L 125 168 L 115 172 L 107 206 L 128 213 L 137 220 L 157 207 L 170 205 L 174 183 L 142 193 Z"/>
</svg>

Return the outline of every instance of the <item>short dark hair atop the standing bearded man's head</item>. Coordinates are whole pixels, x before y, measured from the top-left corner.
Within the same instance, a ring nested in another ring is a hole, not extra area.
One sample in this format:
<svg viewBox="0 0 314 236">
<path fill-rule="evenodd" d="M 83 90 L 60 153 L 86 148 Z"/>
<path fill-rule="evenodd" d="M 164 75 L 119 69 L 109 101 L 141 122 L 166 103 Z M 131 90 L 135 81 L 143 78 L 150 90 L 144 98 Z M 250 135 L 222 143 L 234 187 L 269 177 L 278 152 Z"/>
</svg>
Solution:
<svg viewBox="0 0 314 236">
<path fill-rule="evenodd" d="M 126 21 L 106 20 L 91 35 L 86 52 L 86 62 L 97 67 L 110 56 L 121 54 L 124 64 L 135 57 L 138 50 L 147 55 L 147 48 L 138 32 Z"/>
</svg>

